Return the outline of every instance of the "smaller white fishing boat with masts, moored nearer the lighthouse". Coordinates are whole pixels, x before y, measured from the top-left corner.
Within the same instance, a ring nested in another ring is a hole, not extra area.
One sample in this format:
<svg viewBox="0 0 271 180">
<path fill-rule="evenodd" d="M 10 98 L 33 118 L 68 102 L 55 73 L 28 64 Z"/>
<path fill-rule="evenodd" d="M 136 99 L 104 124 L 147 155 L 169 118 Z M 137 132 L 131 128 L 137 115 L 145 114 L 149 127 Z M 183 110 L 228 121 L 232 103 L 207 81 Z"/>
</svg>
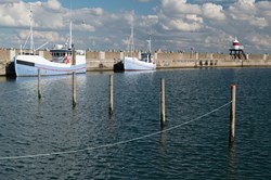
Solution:
<svg viewBox="0 0 271 180">
<path fill-rule="evenodd" d="M 149 41 L 149 52 L 141 53 L 141 57 L 134 57 L 134 43 L 133 43 L 133 21 L 131 23 L 131 36 L 130 36 L 130 56 L 125 56 L 124 59 L 124 69 L 125 70 L 154 70 L 156 69 L 155 61 L 152 56 L 152 41 L 151 36 Z"/>
</svg>

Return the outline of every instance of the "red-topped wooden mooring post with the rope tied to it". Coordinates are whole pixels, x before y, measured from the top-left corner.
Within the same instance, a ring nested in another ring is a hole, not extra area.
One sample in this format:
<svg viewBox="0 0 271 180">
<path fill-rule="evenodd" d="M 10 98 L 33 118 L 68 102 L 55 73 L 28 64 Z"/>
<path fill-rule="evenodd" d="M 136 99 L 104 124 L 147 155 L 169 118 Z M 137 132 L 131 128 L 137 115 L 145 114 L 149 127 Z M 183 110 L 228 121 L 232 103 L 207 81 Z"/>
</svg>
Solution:
<svg viewBox="0 0 271 180">
<path fill-rule="evenodd" d="M 230 138 L 229 142 L 234 142 L 235 136 L 235 104 L 236 104 L 236 85 L 231 86 L 232 103 L 231 103 L 231 113 L 230 113 Z"/>
</svg>

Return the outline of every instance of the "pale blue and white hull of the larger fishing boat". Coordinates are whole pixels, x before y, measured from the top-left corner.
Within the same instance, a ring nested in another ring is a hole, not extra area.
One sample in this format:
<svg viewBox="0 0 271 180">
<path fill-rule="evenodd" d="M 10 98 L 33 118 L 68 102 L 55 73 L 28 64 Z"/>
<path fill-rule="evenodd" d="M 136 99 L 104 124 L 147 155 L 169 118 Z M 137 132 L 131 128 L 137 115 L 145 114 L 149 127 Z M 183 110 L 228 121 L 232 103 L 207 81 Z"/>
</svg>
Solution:
<svg viewBox="0 0 271 180">
<path fill-rule="evenodd" d="M 37 76 L 38 69 L 42 76 L 68 75 L 73 72 L 86 73 L 86 61 L 76 65 L 54 63 L 39 55 L 17 55 L 14 60 L 16 76 Z"/>
</svg>

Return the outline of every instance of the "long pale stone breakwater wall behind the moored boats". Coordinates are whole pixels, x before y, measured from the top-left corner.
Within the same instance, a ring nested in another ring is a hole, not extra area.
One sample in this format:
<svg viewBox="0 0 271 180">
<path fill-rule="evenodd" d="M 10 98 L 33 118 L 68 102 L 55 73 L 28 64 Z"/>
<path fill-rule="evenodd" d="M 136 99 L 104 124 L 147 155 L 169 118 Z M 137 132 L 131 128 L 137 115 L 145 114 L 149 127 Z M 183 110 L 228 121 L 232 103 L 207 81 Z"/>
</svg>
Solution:
<svg viewBox="0 0 271 180">
<path fill-rule="evenodd" d="M 0 75 L 5 75 L 5 66 L 18 54 L 20 50 L 0 49 Z M 39 55 L 50 60 L 49 51 L 38 51 Z M 88 70 L 113 70 L 114 64 L 121 61 L 126 52 L 87 51 Z M 140 56 L 139 52 L 133 53 Z M 179 53 L 155 52 L 153 56 L 157 68 L 197 68 L 197 67 L 271 67 L 271 55 L 246 54 L 247 60 L 234 59 L 221 53 Z"/>
</svg>

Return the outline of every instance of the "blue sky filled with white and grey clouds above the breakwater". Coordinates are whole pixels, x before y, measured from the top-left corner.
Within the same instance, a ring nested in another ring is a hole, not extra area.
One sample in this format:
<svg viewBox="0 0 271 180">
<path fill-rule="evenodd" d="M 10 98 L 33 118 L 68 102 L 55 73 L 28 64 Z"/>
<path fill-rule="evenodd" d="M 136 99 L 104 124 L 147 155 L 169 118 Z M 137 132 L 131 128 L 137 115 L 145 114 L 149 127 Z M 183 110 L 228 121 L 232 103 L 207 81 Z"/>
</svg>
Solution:
<svg viewBox="0 0 271 180">
<path fill-rule="evenodd" d="M 228 53 L 237 37 L 248 53 L 271 53 L 270 0 L 0 0 L 0 47 L 65 43 L 73 21 L 80 49 L 126 50 L 134 17 L 136 49 Z"/>
</svg>

